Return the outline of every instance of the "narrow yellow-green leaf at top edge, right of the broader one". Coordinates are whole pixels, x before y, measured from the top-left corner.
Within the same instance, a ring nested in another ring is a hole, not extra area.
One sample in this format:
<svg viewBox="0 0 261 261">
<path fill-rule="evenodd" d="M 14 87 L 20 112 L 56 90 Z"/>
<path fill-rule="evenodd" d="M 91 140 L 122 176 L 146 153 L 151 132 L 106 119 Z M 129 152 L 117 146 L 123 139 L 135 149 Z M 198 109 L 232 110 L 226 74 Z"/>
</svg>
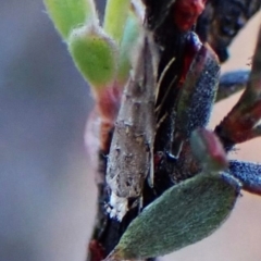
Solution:
<svg viewBox="0 0 261 261">
<path fill-rule="evenodd" d="M 117 44 L 121 42 L 130 0 L 108 0 L 103 28 Z"/>
</svg>

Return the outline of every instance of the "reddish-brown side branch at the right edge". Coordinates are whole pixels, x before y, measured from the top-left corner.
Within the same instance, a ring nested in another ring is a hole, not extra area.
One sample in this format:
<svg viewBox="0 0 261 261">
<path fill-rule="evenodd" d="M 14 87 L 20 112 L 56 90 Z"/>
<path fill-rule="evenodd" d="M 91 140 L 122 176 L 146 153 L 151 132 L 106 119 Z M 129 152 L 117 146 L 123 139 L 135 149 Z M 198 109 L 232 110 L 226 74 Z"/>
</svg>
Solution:
<svg viewBox="0 0 261 261">
<path fill-rule="evenodd" d="M 261 28 L 254 51 L 247 88 L 232 111 L 216 126 L 215 132 L 229 150 L 235 144 L 260 135 L 261 119 Z"/>
</svg>

